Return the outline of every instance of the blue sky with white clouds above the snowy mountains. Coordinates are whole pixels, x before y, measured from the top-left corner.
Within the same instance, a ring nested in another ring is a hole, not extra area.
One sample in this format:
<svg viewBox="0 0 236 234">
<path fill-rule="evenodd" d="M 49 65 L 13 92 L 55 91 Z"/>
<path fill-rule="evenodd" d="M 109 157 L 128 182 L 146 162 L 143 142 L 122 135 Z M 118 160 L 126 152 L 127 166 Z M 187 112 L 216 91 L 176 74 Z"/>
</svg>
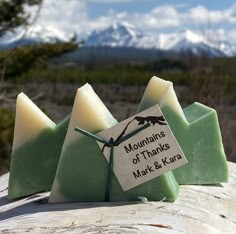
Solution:
<svg viewBox="0 0 236 234">
<path fill-rule="evenodd" d="M 44 0 L 37 24 L 83 36 L 119 21 L 146 33 L 208 30 L 236 42 L 232 0 Z"/>
</svg>

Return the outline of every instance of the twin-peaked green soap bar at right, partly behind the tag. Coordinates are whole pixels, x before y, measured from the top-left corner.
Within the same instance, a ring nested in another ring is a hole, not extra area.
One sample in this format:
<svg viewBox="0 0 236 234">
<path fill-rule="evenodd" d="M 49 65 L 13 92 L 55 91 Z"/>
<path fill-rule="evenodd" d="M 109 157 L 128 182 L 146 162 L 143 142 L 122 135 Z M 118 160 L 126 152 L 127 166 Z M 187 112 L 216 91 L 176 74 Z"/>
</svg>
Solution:
<svg viewBox="0 0 236 234">
<path fill-rule="evenodd" d="M 173 171 L 179 184 L 215 184 L 228 181 L 228 166 L 217 113 L 200 103 L 181 108 L 173 85 L 153 77 L 139 111 L 159 104 L 188 164 Z"/>
</svg>

